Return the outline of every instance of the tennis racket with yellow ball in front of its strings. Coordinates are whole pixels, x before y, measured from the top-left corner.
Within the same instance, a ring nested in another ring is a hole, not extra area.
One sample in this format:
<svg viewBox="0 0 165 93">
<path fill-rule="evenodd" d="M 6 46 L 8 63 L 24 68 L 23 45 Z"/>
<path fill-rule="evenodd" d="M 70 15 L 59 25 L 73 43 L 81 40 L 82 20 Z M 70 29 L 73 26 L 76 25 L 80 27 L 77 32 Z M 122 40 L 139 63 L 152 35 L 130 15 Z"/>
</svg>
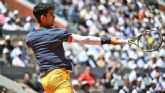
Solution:
<svg viewBox="0 0 165 93">
<path fill-rule="evenodd" d="M 143 52 L 158 50 L 163 42 L 163 36 L 158 30 L 145 30 L 134 39 L 129 39 L 130 45 L 136 45 Z"/>
</svg>

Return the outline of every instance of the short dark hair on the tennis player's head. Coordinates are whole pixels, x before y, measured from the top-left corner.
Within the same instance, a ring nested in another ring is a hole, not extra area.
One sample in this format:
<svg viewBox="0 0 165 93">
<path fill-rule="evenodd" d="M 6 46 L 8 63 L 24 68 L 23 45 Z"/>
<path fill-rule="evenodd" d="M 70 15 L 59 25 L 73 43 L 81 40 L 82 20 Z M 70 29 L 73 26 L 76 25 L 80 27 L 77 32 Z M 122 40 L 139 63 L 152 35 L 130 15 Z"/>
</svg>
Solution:
<svg viewBox="0 0 165 93">
<path fill-rule="evenodd" d="M 36 17 L 37 21 L 40 22 L 41 15 L 46 15 L 48 10 L 54 10 L 54 6 L 47 3 L 38 3 L 33 8 L 33 14 Z"/>
</svg>

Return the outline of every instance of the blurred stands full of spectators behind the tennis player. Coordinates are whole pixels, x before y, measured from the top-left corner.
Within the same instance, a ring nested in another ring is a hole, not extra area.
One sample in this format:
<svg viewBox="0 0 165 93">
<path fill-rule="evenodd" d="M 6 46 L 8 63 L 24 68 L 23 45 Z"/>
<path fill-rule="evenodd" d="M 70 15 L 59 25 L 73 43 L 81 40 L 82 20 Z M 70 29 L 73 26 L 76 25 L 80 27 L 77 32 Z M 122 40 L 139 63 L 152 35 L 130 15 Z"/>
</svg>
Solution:
<svg viewBox="0 0 165 93">
<path fill-rule="evenodd" d="M 71 33 L 133 38 L 145 29 L 165 36 L 165 0 L 0 0 L 0 93 L 44 93 L 26 34 L 32 9 L 55 5 L 56 21 Z M 165 39 L 165 38 L 164 38 Z M 136 46 L 64 43 L 74 64 L 75 93 L 165 93 L 165 42 L 158 51 Z"/>
</svg>

